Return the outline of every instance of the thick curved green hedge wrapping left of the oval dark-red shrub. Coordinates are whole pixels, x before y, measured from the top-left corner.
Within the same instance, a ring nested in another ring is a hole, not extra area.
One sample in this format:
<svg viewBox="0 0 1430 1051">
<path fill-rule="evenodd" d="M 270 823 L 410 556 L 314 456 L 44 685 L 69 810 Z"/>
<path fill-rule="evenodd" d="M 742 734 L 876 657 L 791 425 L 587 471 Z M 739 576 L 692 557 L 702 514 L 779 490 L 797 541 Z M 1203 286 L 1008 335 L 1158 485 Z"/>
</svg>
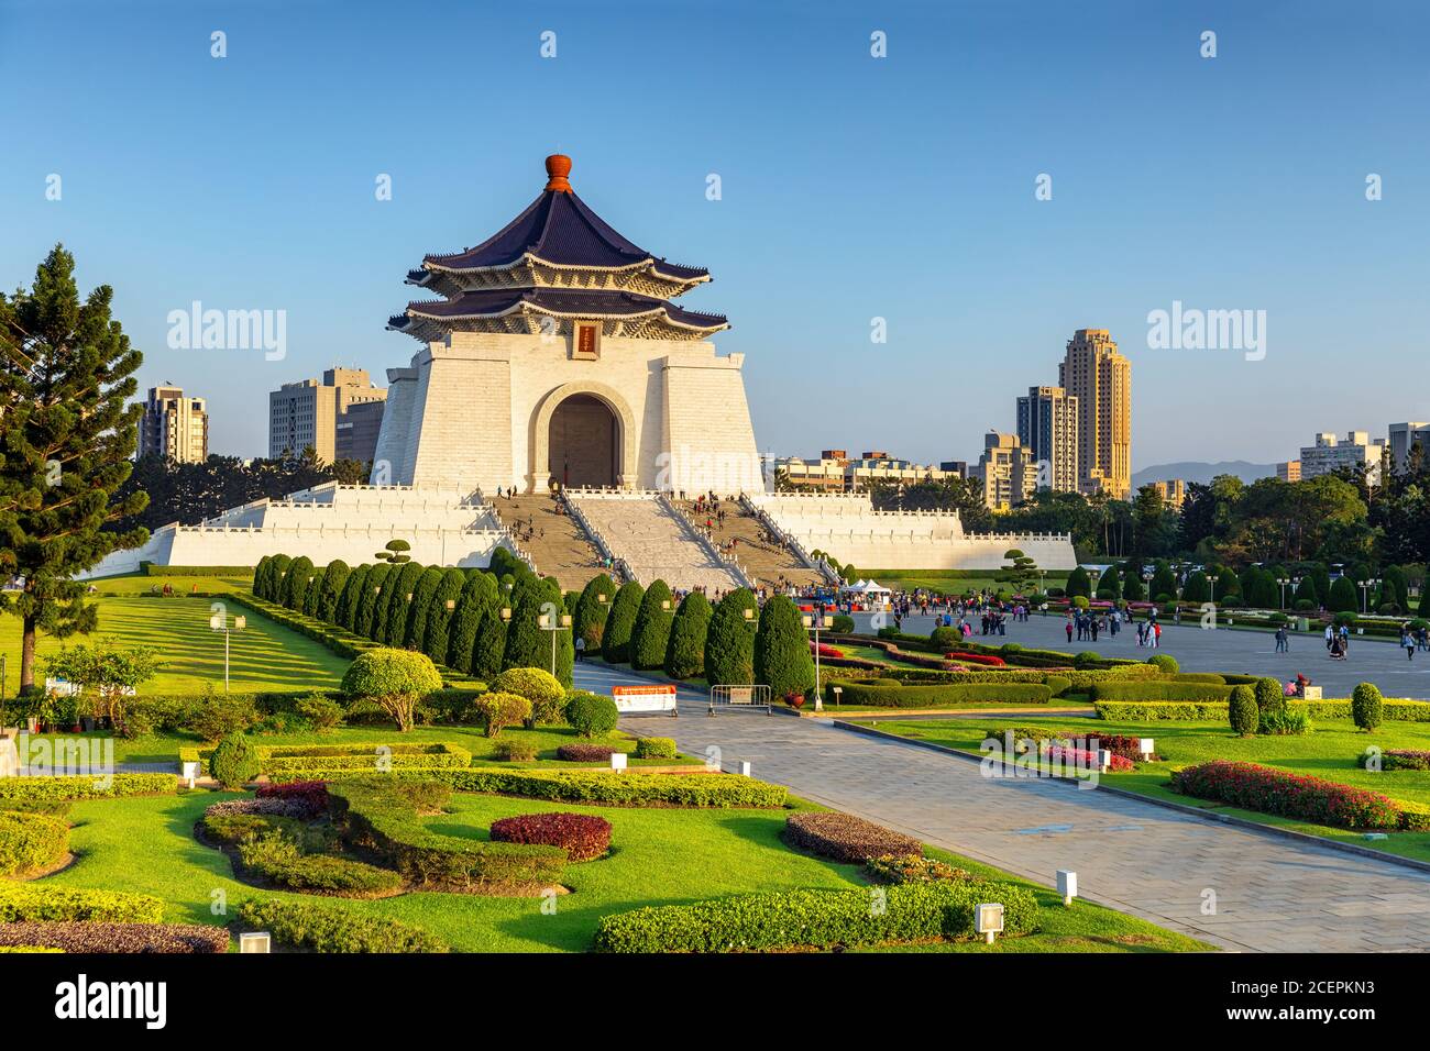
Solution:
<svg viewBox="0 0 1430 1051">
<path fill-rule="evenodd" d="M 360 842 L 375 847 L 403 875 L 425 887 L 555 882 L 566 862 L 566 852 L 556 847 L 480 842 L 433 832 L 418 821 L 402 785 L 388 779 L 329 784 L 327 795 Z"/>
</svg>

